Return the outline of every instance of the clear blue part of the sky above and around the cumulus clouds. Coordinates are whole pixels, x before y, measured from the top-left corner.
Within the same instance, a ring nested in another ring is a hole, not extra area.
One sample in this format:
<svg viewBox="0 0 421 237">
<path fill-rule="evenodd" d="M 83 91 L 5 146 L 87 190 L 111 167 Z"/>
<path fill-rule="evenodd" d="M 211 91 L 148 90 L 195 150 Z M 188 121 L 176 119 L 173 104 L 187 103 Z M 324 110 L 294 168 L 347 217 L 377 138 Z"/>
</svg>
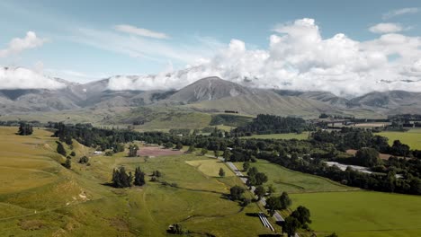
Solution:
<svg viewBox="0 0 421 237">
<path fill-rule="evenodd" d="M 245 42 L 247 49 L 267 50 L 276 33 L 273 29 L 303 18 L 314 19 L 323 39 L 344 33 L 362 42 L 398 32 L 389 31 L 390 25 L 381 33 L 370 31 L 382 22 L 398 25 L 405 36 L 421 36 L 420 7 L 420 1 L 405 0 L 3 0 L 0 49 L 8 48 L 14 38 L 23 39 L 28 31 L 42 43 L 5 54 L 0 65 L 42 67 L 45 74 L 78 82 L 109 75 L 156 74 L 197 65 L 228 48 L 233 39 Z M 148 30 L 147 35 L 123 31 L 121 25 Z"/>
</svg>

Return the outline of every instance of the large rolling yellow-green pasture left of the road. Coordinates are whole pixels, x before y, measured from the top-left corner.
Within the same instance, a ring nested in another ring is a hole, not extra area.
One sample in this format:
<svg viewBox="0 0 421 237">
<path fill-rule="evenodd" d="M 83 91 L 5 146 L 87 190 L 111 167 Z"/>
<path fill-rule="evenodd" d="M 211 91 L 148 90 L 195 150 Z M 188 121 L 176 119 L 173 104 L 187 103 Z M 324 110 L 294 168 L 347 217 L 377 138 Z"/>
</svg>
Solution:
<svg viewBox="0 0 421 237">
<path fill-rule="evenodd" d="M 252 215 L 255 204 L 242 208 L 224 198 L 236 176 L 216 178 L 186 161 L 213 162 L 184 154 L 158 158 L 93 156 L 93 149 L 74 144 L 72 169 L 55 152 L 56 138 L 35 129 L 32 136 L 16 136 L 17 127 L 0 127 L 0 230 L 2 236 L 166 236 L 169 224 L 181 223 L 193 236 L 257 236 L 270 233 Z M 67 152 L 69 152 L 67 146 Z M 90 166 L 77 163 L 91 156 Z M 113 189 L 112 169 L 140 166 L 148 175 L 161 171 L 161 180 L 130 189 Z M 227 173 L 228 173 L 228 168 Z M 212 170 L 212 169 L 210 169 Z M 249 193 L 246 193 L 251 198 Z M 279 229 L 278 229 L 279 231 Z"/>
</svg>

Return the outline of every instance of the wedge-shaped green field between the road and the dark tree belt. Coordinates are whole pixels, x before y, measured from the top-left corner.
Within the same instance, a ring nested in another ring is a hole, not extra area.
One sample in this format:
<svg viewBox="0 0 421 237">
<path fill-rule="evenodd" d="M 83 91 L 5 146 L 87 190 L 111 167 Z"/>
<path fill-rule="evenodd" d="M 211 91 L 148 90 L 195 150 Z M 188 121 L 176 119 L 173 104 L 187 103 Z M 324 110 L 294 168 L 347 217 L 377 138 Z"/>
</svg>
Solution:
<svg viewBox="0 0 421 237">
<path fill-rule="evenodd" d="M 236 165 L 238 168 L 243 167 L 243 164 L 240 162 L 236 163 Z M 282 191 L 305 193 L 354 189 L 316 175 L 291 171 L 281 165 L 264 160 L 257 160 L 257 162 L 251 163 L 251 167 L 256 167 L 258 171 L 263 171 L 267 175 L 268 182 L 266 185 L 272 184 L 276 189 L 277 195 L 280 195 Z"/>
</svg>

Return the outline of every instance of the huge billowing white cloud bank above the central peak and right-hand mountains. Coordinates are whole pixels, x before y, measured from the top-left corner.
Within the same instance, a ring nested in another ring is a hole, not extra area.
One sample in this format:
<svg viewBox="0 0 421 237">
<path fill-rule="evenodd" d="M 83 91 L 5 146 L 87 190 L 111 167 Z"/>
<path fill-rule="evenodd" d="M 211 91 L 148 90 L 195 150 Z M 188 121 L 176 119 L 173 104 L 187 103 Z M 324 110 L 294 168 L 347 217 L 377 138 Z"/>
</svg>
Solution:
<svg viewBox="0 0 421 237">
<path fill-rule="evenodd" d="M 251 87 L 326 91 L 353 97 L 372 91 L 421 92 L 421 39 L 397 33 L 367 41 L 343 33 L 323 39 L 313 19 L 277 25 L 267 49 L 241 40 L 200 64 L 158 75 L 116 76 L 111 90 L 180 89 L 206 76 Z M 389 60 L 390 56 L 396 56 Z"/>
</svg>

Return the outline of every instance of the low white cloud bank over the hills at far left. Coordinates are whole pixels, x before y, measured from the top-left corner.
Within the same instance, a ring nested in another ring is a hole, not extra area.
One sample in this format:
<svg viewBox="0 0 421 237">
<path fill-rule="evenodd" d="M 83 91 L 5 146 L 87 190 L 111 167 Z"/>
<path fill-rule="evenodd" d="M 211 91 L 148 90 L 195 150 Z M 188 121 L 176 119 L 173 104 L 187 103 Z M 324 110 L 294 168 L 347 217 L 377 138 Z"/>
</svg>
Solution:
<svg viewBox="0 0 421 237">
<path fill-rule="evenodd" d="M 0 90 L 59 89 L 65 84 L 22 67 L 0 67 Z"/>
</svg>

